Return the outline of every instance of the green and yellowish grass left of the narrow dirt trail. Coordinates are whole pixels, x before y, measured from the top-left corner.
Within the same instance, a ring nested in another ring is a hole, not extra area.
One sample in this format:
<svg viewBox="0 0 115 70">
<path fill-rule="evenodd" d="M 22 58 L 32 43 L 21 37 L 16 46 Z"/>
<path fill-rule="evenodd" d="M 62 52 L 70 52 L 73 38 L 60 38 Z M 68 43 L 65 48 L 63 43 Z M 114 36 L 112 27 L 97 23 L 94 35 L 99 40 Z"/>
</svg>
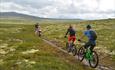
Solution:
<svg viewBox="0 0 115 70">
<path fill-rule="evenodd" d="M 92 70 L 35 36 L 33 24 L 7 22 L 0 23 L 0 70 Z"/>
</svg>

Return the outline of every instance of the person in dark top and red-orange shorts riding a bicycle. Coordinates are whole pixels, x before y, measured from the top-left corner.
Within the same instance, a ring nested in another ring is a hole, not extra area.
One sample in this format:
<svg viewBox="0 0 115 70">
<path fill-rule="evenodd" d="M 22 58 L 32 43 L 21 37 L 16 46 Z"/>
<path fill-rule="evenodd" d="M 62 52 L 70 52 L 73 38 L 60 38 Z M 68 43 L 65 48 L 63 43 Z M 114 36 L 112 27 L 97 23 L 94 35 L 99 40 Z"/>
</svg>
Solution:
<svg viewBox="0 0 115 70">
<path fill-rule="evenodd" d="M 70 44 L 70 42 L 72 41 L 72 43 L 74 44 L 75 40 L 76 40 L 76 31 L 74 30 L 73 26 L 69 26 L 69 28 L 67 29 L 67 32 L 65 34 L 65 38 L 68 36 L 68 43 Z"/>
</svg>

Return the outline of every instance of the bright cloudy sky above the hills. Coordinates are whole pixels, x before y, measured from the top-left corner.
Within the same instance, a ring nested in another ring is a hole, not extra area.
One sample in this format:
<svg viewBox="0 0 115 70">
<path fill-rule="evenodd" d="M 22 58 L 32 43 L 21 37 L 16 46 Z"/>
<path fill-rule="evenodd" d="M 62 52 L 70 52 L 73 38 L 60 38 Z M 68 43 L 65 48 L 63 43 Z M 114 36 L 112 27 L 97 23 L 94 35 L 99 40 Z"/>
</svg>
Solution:
<svg viewBox="0 0 115 70">
<path fill-rule="evenodd" d="M 0 12 L 44 18 L 115 18 L 115 0 L 0 0 Z"/>
</svg>

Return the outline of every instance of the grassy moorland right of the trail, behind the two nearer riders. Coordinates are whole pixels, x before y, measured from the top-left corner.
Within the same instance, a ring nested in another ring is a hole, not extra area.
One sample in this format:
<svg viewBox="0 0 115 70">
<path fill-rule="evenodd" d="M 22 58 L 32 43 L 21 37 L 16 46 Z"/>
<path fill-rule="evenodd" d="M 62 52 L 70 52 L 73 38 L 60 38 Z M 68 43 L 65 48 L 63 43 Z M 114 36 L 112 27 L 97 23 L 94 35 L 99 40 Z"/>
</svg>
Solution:
<svg viewBox="0 0 115 70">
<path fill-rule="evenodd" d="M 77 39 L 80 38 L 83 31 L 86 30 L 86 25 L 90 24 L 98 35 L 95 50 L 99 54 L 100 64 L 115 69 L 113 65 L 115 64 L 115 19 L 81 21 L 65 24 L 58 24 L 58 22 L 56 24 L 44 24 L 42 25 L 44 36 L 63 48 L 66 42 L 64 35 L 70 24 L 74 26 L 77 32 Z M 86 37 L 84 38 L 84 41 L 87 41 Z"/>
</svg>

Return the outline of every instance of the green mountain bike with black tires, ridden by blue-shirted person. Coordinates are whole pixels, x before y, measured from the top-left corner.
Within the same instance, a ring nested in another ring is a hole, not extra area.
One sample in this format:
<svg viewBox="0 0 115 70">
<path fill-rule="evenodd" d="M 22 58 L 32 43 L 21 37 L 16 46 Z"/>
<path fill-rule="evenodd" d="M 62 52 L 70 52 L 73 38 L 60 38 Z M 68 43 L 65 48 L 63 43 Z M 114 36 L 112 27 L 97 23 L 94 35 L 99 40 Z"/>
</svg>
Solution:
<svg viewBox="0 0 115 70">
<path fill-rule="evenodd" d="M 83 43 L 85 44 L 85 43 Z M 80 47 L 80 49 L 78 50 L 78 59 L 82 62 L 84 59 L 86 59 L 89 62 L 90 67 L 92 68 L 96 68 L 98 66 L 99 63 L 99 58 L 98 58 L 98 54 L 96 53 L 96 51 L 92 51 L 90 50 L 90 47 L 88 48 L 84 48 L 84 45 L 82 45 Z"/>
</svg>

